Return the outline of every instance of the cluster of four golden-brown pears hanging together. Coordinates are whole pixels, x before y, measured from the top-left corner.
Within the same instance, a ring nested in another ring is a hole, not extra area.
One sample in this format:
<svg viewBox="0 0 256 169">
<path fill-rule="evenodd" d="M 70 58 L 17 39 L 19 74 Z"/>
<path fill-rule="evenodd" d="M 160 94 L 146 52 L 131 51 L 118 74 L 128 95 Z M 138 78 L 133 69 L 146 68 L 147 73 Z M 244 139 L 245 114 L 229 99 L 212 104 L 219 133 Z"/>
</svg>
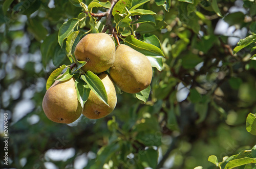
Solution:
<svg viewBox="0 0 256 169">
<path fill-rule="evenodd" d="M 74 53 L 78 61 L 87 62 L 81 68 L 83 71 L 90 70 L 101 79 L 109 105 L 91 90 L 82 108 L 77 99 L 74 77 L 66 81 L 55 80 L 42 101 L 46 116 L 54 122 L 72 123 L 81 114 L 89 119 L 103 118 L 116 106 L 115 85 L 126 93 L 138 93 L 151 83 L 153 72 L 146 56 L 124 44 L 116 47 L 108 34 L 84 36 Z M 104 73 L 108 69 L 110 76 Z"/>
</svg>

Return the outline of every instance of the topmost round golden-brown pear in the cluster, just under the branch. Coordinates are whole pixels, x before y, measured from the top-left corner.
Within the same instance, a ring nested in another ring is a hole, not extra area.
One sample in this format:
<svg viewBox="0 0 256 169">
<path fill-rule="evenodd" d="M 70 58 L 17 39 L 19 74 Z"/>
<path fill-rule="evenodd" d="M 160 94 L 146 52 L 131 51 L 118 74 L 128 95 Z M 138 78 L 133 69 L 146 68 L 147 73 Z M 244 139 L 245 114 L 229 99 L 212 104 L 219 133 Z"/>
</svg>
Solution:
<svg viewBox="0 0 256 169">
<path fill-rule="evenodd" d="M 75 57 L 78 61 L 86 61 L 83 71 L 100 73 L 108 70 L 115 61 L 115 43 L 105 33 L 88 34 L 76 45 Z"/>
</svg>

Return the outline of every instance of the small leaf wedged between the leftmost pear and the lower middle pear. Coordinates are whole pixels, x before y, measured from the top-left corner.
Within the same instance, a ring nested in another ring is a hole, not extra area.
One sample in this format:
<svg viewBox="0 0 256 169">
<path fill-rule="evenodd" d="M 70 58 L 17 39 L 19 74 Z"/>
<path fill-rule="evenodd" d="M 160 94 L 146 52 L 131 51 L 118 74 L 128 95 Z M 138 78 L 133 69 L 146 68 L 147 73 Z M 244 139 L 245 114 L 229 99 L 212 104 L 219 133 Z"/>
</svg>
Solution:
<svg viewBox="0 0 256 169">
<path fill-rule="evenodd" d="M 91 89 L 87 88 L 87 83 L 80 78 L 77 78 L 75 80 L 75 87 L 76 87 L 76 94 L 77 94 L 77 99 L 79 103 L 81 104 L 82 108 L 84 106 L 84 103 L 88 100 L 89 94 Z"/>
</svg>

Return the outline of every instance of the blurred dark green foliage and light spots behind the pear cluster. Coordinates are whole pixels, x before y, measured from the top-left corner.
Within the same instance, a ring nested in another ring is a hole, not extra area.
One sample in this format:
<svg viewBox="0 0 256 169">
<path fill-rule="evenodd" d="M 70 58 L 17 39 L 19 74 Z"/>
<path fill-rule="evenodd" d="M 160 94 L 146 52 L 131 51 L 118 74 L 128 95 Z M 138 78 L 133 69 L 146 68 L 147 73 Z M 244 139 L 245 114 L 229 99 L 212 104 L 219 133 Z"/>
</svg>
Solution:
<svg viewBox="0 0 256 169">
<path fill-rule="evenodd" d="M 69 35 L 77 43 L 89 30 L 101 32 L 104 18 L 86 17 L 78 0 L 0 2 L 0 115 L 8 112 L 10 137 L 4 167 L 224 168 L 231 160 L 225 156 L 240 152 L 232 159 L 256 158 L 255 128 L 246 128 L 246 117 L 252 112 L 253 124 L 256 108 L 256 62 L 250 60 L 254 1 L 134 0 L 131 8 L 121 8 L 113 26 L 126 37 L 124 43 L 138 46 L 130 35 L 135 34 L 165 55 L 163 65 L 153 68 L 150 98 L 143 104 L 135 95 L 118 94 L 111 115 L 81 116 L 70 125 L 51 122 L 41 108 L 47 78 L 60 65 L 70 65 L 67 55 L 75 47 L 65 40 L 69 27 L 63 34 L 59 30 L 65 22 L 73 25 Z M 110 3 L 83 3 L 93 13 L 110 8 Z M 136 21 L 134 15 L 141 17 Z"/>
</svg>

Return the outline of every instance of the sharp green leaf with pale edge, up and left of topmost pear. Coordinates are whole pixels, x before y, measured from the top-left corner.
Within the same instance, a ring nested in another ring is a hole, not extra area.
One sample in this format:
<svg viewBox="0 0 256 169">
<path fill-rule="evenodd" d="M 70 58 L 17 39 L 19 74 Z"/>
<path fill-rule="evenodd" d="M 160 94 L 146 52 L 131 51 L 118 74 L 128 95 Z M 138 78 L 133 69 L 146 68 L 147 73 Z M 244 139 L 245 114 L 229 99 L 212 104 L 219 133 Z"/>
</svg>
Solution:
<svg viewBox="0 0 256 169">
<path fill-rule="evenodd" d="M 60 26 L 59 34 L 58 34 L 58 42 L 61 47 L 63 45 L 63 41 L 66 38 L 68 38 L 69 35 L 74 32 L 75 29 L 77 29 L 78 23 L 79 23 L 79 19 L 72 18 Z"/>
</svg>

